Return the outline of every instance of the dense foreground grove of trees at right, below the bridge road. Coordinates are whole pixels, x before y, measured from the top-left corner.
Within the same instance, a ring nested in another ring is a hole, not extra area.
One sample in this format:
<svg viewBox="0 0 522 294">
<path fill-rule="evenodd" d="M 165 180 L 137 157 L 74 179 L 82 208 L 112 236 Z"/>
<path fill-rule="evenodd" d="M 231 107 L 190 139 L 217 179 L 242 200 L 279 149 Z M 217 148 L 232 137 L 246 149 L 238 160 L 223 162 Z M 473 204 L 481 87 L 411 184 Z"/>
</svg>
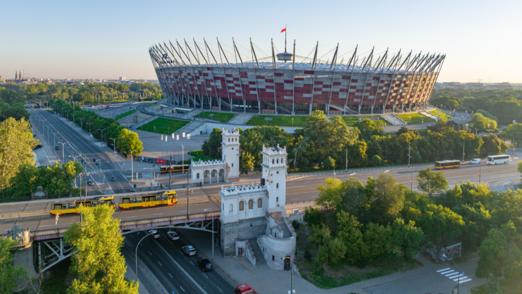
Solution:
<svg viewBox="0 0 522 294">
<path fill-rule="evenodd" d="M 366 185 L 327 178 L 315 200 L 322 210 L 308 208 L 308 230 L 300 232 L 317 252 L 315 261 L 324 267 L 378 264 L 411 258 L 422 247 L 438 256 L 462 242 L 465 254 L 478 252 L 478 277 L 520 277 L 522 191 L 496 193 L 469 182 L 448 187 L 443 173 L 429 168 L 417 180 L 421 192 L 388 173 L 369 177 Z"/>
</svg>

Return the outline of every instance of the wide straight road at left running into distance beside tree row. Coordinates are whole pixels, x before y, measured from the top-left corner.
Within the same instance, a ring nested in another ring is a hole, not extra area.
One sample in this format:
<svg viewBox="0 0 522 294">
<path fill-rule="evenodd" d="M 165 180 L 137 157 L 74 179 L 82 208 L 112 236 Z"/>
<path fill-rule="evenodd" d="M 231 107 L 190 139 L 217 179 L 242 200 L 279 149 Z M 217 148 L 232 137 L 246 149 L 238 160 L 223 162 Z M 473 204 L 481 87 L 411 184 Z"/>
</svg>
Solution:
<svg viewBox="0 0 522 294">
<path fill-rule="evenodd" d="M 98 148 L 98 146 L 94 144 L 94 141 L 78 134 L 72 127 L 70 127 L 70 123 L 72 122 L 61 118 L 57 114 L 52 114 L 47 110 L 36 110 L 35 112 L 42 118 L 41 120 L 38 120 L 38 123 L 49 126 L 40 128 L 44 135 L 49 135 L 49 137 L 46 136 L 48 142 L 53 142 L 53 144 L 54 141 L 65 143 L 63 145 L 56 143 L 56 145 L 60 146 L 61 150 L 63 149 L 62 154 L 60 154 L 60 151 L 56 152 L 58 157 L 60 157 L 60 160 L 65 162 L 74 161 L 73 157 L 69 156 L 81 155 L 76 158 L 76 161 L 81 162 L 81 159 L 84 159 L 84 155 L 86 155 L 87 172 L 96 172 L 96 175 L 87 176 L 87 180 L 92 179 L 95 183 L 94 186 L 87 187 L 88 191 L 100 189 L 111 193 L 114 189 L 128 189 L 132 187 L 127 178 L 121 172 L 117 171 L 118 167 Z M 52 134 L 53 132 L 56 134 Z M 93 162 L 94 159 L 97 161 L 100 160 L 98 165 Z M 100 170 L 113 170 L 115 172 L 102 174 Z M 113 176 L 114 180 L 112 180 Z M 83 183 L 84 180 L 85 177 L 82 177 L 83 186 L 85 186 L 85 183 Z M 79 178 L 77 178 L 77 184 L 79 185 Z"/>
</svg>

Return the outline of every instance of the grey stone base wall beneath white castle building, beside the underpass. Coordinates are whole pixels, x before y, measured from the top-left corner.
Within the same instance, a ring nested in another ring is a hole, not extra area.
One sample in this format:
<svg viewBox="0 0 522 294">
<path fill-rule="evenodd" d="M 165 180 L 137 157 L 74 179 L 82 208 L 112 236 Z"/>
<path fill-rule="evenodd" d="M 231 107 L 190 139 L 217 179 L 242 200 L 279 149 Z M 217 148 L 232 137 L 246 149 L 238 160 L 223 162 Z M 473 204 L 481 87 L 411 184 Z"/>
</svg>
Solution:
<svg viewBox="0 0 522 294">
<path fill-rule="evenodd" d="M 265 233 L 265 217 L 240 220 L 223 224 L 221 222 L 221 253 L 223 256 L 235 255 L 235 240 L 257 238 Z M 252 224 L 252 226 L 251 226 Z"/>
</svg>

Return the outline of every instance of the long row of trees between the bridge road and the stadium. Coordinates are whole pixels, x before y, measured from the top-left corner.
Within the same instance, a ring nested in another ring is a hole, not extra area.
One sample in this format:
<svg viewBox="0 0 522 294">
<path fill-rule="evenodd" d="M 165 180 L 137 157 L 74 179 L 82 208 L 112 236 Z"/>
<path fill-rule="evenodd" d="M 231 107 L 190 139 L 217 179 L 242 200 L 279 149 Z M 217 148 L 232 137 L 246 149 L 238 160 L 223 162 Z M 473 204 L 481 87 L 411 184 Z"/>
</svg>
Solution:
<svg viewBox="0 0 522 294">
<path fill-rule="evenodd" d="M 329 118 L 319 110 L 293 134 L 276 126 L 240 129 L 240 134 L 240 165 L 244 171 L 260 168 L 263 144 L 287 147 L 289 172 L 398 165 L 409 159 L 413 163 L 462 160 L 463 156 L 470 159 L 507 151 L 497 135 L 479 137 L 447 119 L 438 120 L 427 130 L 402 127 L 396 133 L 384 133 L 382 122 L 364 119 L 349 128 L 340 117 Z M 220 129 L 212 130 L 203 151 L 212 159 L 221 158 Z"/>
</svg>

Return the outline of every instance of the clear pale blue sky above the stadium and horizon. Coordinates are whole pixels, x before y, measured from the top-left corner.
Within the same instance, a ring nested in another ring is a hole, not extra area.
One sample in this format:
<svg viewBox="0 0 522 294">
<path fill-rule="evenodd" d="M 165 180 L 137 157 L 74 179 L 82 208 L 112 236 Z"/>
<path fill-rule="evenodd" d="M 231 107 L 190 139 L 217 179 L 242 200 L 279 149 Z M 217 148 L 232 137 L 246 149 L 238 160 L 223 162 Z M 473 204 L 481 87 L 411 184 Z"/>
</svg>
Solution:
<svg viewBox="0 0 522 294">
<path fill-rule="evenodd" d="M 252 38 L 269 53 L 273 38 L 284 51 L 286 25 L 298 55 L 317 42 L 322 54 L 339 43 L 344 56 L 356 45 L 360 53 L 441 52 L 438 82 L 522 83 L 520 11 L 522 1 L 6 1 L 0 75 L 156 80 L 152 44 L 205 37 L 215 48 L 218 37 L 233 54 L 232 37 L 240 53 Z"/>
</svg>

